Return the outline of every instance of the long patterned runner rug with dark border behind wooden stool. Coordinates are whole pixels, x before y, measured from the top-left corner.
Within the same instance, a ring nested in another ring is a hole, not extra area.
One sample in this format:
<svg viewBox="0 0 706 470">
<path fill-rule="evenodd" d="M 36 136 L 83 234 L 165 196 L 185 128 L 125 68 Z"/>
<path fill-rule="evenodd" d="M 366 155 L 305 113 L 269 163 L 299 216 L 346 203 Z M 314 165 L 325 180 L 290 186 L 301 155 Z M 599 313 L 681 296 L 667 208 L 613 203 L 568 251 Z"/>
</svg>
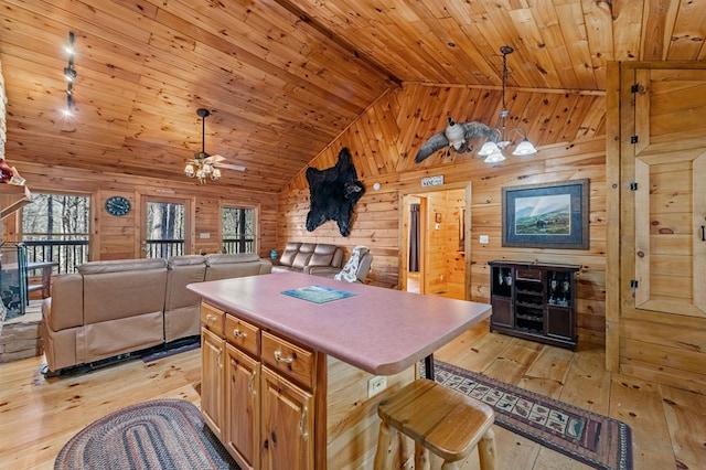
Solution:
<svg viewBox="0 0 706 470">
<path fill-rule="evenodd" d="M 442 361 L 435 380 L 493 407 L 495 424 L 596 469 L 632 469 L 632 435 L 624 423 Z"/>
</svg>

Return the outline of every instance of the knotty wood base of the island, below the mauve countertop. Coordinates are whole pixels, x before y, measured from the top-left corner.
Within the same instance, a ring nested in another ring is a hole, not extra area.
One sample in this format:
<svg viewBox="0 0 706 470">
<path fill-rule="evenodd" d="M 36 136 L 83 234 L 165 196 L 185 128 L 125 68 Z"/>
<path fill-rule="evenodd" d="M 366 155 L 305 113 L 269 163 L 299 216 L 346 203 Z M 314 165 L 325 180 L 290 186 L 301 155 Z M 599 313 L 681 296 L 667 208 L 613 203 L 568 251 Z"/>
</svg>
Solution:
<svg viewBox="0 0 706 470">
<path fill-rule="evenodd" d="M 377 403 L 415 367 L 368 396 L 372 374 L 205 301 L 201 319 L 202 414 L 240 468 L 372 468 Z"/>
</svg>

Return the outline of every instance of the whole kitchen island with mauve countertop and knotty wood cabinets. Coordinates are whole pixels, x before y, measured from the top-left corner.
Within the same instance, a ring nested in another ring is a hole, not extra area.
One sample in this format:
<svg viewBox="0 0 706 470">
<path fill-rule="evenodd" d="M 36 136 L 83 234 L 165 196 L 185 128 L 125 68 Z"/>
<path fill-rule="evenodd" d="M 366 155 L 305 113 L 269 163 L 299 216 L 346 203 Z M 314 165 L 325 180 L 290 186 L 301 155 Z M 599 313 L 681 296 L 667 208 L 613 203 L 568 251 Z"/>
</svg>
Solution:
<svg viewBox="0 0 706 470">
<path fill-rule="evenodd" d="M 377 403 L 490 317 L 485 303 L 293 273 L 189 289 L 203 299 L 204 420 L 244 469 L 372 468 Z"/>
</svg>

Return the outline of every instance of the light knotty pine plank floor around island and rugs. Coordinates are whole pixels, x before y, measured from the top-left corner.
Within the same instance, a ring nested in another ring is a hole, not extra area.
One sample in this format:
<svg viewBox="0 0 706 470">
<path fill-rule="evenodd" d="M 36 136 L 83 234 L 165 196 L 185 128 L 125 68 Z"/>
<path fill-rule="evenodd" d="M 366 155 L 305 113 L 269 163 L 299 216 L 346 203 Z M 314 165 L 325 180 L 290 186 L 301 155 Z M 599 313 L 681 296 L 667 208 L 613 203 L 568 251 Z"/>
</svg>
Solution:
<svg viewBox="0 0 706 470">
<path fill-rule="evenodd" d="M 135 403 L 179 397 L 199 405 L 200 354 L 50 380 L 40 372 L 42 357 L 0 364 L 0 469 L 52 469 L 74 434 Z M 489 333 L 481 323 L 436 357 L 625 421 L 635 470 L 706 468 L 706 397 L 605 372 L 600 346 L 580 344 L 574 353 Z M 501 469 L 587 468 L 498 426 L 495 431 Z M 475 466 L 472 458 L 467 468 Z"/>
</svg>

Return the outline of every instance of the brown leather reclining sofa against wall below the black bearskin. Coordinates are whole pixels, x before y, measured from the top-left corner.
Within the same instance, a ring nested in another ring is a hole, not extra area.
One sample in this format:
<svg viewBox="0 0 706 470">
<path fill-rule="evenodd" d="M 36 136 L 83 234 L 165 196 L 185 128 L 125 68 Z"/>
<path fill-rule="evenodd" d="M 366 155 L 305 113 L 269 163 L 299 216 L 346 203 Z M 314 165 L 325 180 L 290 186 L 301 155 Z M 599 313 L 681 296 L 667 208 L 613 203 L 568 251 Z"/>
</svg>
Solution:
<svg viewBox="0 0 706 470">
<path fill-rule="evenodd" d="M 343 248 L 325 243 L 288 242 L 272 267 L 272 273 L 315 274 L 317 268 L 338 269 L 343 266 Z"/>
</svg>

